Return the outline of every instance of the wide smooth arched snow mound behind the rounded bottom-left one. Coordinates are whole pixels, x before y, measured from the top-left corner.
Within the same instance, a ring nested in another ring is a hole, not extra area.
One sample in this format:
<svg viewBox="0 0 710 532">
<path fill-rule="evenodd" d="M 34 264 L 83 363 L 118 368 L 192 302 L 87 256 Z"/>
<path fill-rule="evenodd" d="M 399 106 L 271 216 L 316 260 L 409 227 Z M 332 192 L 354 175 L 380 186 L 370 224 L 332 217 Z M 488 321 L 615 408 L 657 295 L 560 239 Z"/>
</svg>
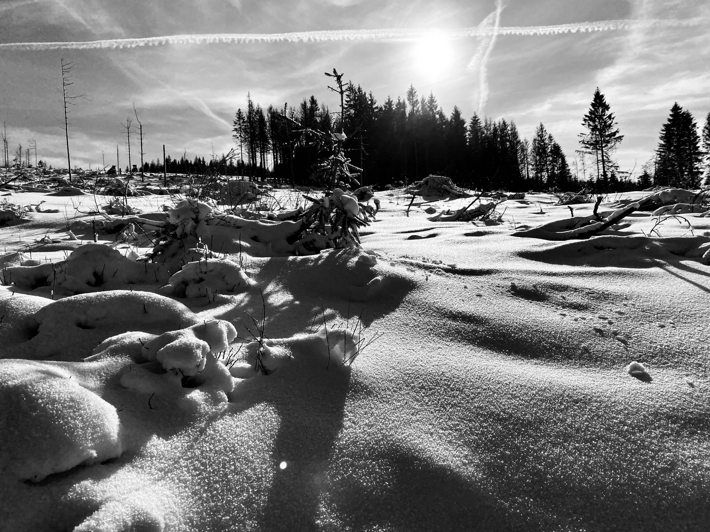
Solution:
<svg viewBox="0 0 710 532">
<path fill-rule="evenodd" d="M 81 360 L 111 336 L 126 331 L 163 333 L 199 318 L 185 305 L 151 292 L 90 292 L 53 301 L 31 318 L 34 336 L 14 346 L 17 358 Z"/>
</svg>

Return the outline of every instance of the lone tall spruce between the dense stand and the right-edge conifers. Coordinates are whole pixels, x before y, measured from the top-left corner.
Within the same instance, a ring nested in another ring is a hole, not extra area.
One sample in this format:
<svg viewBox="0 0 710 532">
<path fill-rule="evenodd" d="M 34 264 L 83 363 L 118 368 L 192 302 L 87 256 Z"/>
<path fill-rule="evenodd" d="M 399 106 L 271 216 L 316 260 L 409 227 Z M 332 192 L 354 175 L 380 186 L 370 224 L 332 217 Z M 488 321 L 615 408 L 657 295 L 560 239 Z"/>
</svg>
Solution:
<svg viewBox="0 0 710 532">
<path fill-rule="evenodd" d="M 609 109 L 604 95 L 601 94 L 599 87 L 596 87 L 589 113 L 586 113 L 582 120 L 582 126 L 587 128 L 589 133 L 582 133 L 579 140 L 581 152 L 594 155 L 597 180 L 601 178 L 605 187 L 608 184 L 609 174 L 618 168 L 616 162 L 611 159 L 611 154 L 623 140 L 623 135 L 619 135 L 618 128 L 615 128 L 616 119 Z"/>
</svg>

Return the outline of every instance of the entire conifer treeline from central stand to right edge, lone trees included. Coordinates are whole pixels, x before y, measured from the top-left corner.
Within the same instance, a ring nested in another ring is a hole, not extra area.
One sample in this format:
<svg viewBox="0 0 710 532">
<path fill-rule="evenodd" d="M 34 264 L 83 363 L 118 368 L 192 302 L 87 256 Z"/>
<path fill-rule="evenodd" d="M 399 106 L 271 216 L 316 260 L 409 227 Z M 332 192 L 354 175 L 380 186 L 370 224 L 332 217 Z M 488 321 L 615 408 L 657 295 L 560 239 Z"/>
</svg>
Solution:
<svg viewBox="0 0 710 532">
<path fill-rule="evenodd" d="M 363 170 L 361 181 L 368 185 L 442 174 L 474 189 L 625 192 L 651 185 L 697 188 L 704 171 L 710 182 L 710 113 L 699 135 L 689 111 L 674 104 L 655 156 L 632 180 L 613 158 L 623 135 L 599 87 L 581 121 L 585 131 L 574 151 L 574 172 L 543 123 L 528 140 L 520 137 L 513 121 L 476 113 L 466 121 L 457 106 L 447 115 L 433 93 L 420 97 L 413 85 L 404 98 L 388 96 L 378 104 L 372 92 L 349 82 L 343 109 L 337 112 L 319 105 L 316 96 L 297 107 L 264 110 L 248 95 L 232 132 L 239 164 L 251 177 L 312 184 L 309 177 L 319 154 L 309 135 L 284 116 L 303 128 L 349 135 L 346 155 Z"/>
</svg>

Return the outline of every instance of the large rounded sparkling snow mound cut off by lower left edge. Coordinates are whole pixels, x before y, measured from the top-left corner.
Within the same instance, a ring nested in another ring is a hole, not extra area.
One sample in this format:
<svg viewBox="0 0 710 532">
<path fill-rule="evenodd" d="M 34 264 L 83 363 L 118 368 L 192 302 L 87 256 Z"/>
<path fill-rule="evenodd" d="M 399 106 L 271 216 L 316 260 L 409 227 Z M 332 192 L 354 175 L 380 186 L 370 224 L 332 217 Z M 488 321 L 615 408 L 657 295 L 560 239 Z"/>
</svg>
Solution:
<svg viewBox="0 0 710 532">
<path fill-rule="evenodd" d="M 114 406 L 53 362 L 0 360 L 0 433 L 0 472 L 33 482 L 123 452 Z"/>
</svg>

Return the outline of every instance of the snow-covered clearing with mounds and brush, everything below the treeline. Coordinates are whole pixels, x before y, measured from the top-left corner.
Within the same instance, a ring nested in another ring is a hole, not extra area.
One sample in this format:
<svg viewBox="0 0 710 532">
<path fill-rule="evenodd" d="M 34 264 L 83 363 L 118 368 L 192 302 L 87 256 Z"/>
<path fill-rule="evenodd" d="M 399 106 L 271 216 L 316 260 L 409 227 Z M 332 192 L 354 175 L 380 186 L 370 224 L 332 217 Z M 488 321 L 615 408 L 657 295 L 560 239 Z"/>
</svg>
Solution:
<svg viewBox="0 0 710 532">
<path fill-rule="evenodd" d="M 708 190 L 72 173 L 0 188 L 0 531 L 709 529 Z"/>
</svg>

